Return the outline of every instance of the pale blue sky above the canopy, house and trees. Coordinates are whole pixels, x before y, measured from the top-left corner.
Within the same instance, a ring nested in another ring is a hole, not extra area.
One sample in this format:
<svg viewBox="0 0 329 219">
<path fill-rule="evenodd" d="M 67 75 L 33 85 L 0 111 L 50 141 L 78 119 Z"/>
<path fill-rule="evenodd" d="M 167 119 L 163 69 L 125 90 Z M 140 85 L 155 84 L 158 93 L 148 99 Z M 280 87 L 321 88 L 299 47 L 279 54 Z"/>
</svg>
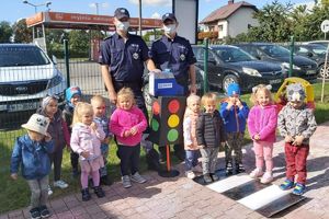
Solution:
<svg viewBox="0 0 329 219">
<path fill-rule="evenodd" d="M 131 16 L 138 16 L 138 0 L 29 0 L 36 7 L 37 11 L 46 11 L 45 3 L 50 1 L 50 11 L 68 13 L 88 13 L 101 15 L 113 15 L 118 7 L 124 7 L 131 12 Z M 180 1 L 180 0 L 175 0 Z M 235 0 L 238 2 L 240 0 Z M 245 0 L 261 9 L 273 0 Z M 34 14 L 35 7 L 23 3 L 23 0 L 0 0 L 0 22 L 8 21 L 11 24 L 20 19 Z M 141 0 L 143 18 L 160 18 L 162 14 L 172 11 L 172 0 Z M 307 3 L 311 0 L 280 0 L 282 3 Z M 44 4 L 44 5 L 42 5 Z M 198 0 L 198 21 L 203 20 L 212 11 L 227 4 L 227 0 Z M 98 9 L 98 10 L 97 10 Z"/>
</svg>

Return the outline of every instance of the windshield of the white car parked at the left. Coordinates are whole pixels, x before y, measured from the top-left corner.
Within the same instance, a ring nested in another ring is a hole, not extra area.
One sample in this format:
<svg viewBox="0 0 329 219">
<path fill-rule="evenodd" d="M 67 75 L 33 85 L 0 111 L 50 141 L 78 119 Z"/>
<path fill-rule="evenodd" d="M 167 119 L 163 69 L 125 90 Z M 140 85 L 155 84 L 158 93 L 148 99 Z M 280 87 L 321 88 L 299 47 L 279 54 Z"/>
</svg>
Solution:
<svg viewBox="0 0 329 219">
<path fill-rule="evenodd" d="M 0 67 L 43 66 L 49 64 L 38 47 L 0 47 Z"/>
</svg>

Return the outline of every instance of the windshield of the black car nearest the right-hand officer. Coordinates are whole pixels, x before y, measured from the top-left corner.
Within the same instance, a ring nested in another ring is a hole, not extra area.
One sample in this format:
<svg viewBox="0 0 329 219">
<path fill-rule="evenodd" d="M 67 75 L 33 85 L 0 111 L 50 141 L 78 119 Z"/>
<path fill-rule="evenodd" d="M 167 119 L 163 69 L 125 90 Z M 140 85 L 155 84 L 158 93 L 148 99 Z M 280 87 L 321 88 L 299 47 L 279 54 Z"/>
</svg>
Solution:
<svg viewBox="0 0 329 219">
<path fill-rule="evenodd" d="M 238 62 L 256 60 L 254 57 L 236 47 L 214 47 L 213 50 L 224 62 Z"/>
</svg>

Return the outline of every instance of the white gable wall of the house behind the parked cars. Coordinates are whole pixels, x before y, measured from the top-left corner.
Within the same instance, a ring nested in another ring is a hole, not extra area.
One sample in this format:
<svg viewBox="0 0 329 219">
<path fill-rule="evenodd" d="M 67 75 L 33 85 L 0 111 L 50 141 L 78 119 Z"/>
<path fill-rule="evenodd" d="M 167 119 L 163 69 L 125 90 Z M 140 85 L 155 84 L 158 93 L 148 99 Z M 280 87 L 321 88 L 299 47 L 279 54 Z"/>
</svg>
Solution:
<svg viewBox="0 0 329 219">
<path fill-rule="evenodd" d="M 228 18 L 228 32 L 231 37 L 236 37 L 240 33 L 248 32 L 248 24 L 258 26 L 258 20 L 252 19 L 253 10 L 250 8 L 241 8 Z"/>
</svg>

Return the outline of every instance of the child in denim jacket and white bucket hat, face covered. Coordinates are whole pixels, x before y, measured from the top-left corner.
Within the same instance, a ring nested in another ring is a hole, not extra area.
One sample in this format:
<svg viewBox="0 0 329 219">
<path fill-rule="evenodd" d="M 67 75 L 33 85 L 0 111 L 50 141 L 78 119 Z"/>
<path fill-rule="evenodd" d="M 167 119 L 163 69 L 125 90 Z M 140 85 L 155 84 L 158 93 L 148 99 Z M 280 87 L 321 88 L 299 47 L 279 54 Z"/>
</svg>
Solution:
<svg viewBox="0 0 329 219">
<path fill-rule="evenodd" d="M 31 189 L 31 218 L 46 218 L 50 212 L 46 206 L 48 200 L 48 183 L 50 160 L 54 143 L 47 132 L 49 119 L 43 115 L 33 114 L 22 127 L 27 134 L 16 139 L 11 155 L 10 173 L 18 180 L 19 168 Z"/>
</svg>

